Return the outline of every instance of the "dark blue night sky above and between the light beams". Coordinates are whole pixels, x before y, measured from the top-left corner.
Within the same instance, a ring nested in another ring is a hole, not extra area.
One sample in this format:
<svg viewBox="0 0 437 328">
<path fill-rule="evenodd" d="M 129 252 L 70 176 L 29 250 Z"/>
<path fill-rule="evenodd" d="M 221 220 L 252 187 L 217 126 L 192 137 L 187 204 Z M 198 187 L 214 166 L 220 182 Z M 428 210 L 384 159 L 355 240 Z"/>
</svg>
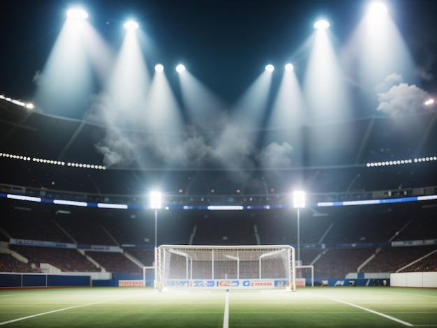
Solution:
<svg viewBox="0 0 437 328">
<path fill-rule="evenodd" d="M 435 94 L 437 1 L 386 1 L 390 14 L 427 73 L 420 87 Z M 183 61 L 193 75 L 228 103 L 235 101 L 265 64 L 297 61 L 299 48 L 326 17 L 339 44 L 364 15 L 368 1 L 358 0 L 147 0 L 82 1 L 89 21 L 119 47 L 122 24 L 135 17 L 151 40 L 149 64 L 173 68 Z M 30 100 L 32 79 L 45 61 L 73 1 L 6 0 L 1 2 L 0 94 Z M 304 74 L 296 67 L 297 75 Z M 169 80 L 177 78 L 168 74 Z"/>
</svg>

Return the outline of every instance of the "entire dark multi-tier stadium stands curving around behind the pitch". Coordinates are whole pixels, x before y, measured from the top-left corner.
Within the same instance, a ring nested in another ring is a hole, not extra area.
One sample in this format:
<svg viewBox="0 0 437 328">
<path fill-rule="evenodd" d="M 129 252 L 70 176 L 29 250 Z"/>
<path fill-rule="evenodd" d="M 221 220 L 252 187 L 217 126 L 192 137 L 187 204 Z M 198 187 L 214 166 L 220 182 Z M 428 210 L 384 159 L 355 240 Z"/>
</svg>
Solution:
<svg viewBox="0 0 437 328">
<path fill-rule="evenodd" d="M 149 159 L 152 168 L 148 170 L 142 170 L 138 161 L 96 170 L 67 163 L 102 165 L 101 154 L 94 147 L 105 135 L 105 128 L 2 105 L 1 154 L 29 156 L 26 161 L 0 156 L 2 170 L 7 172 L 0 176 L 2 195 L 133 207 L 80 208 L 2 197 L 0 241 L 9 243 L 9 249 L 27 258 L 29 264 L 0 252 L 0 271 L 38 271 L 40 264 L 47 262 L 67 272 L 101 271 L 103 267 L 111 272 L 140 274 L 142 265 L 154 262 L 154 214 L 147 209 L 145 193 L 149 183 L 156 181 L 165 191 L 165 205 L 177 207 L 159 210 L 158 244 L 295 245 L 297 218 L 289 193 L 292 187 L 300 186 L 311 191 L 307 203 L 313 205 L 301 211 L 301 259 L 303 264 L 314 265 L 316 278 L 344 278 L 373 255 L 361 272 L 436 271 L 436 200 L 314 206 L 318 202 L 437 195 L 437 161 L 422 159 L 437 154 L 437 127 L 429 127 L 434 115 L 425 112 L 397 124 L 390 118 L 369 117 L 272 131 L 272 135 L 308 137 L 306 142 L 293 145 L 289 167 L 274 170 L 262 165 L 228 170 L 220 163 L 194 170 L 154 158 Z M 406 125 L 408 134 L 403 133 Z M 350 130 L 355 131 L 354 137 L 331 137 Z M 423 131 L 429 132 L 423 135 Z M 417 156 L 425 157 L 412 163 L 388 164 Z M 34 158 L 63 161 L 64 165 L 40 163 Z M 384 165 L 366 165 L 377 162 Z M 208 211 L 210 204 L 268 206 Z M 185 210 L 184 206 L 201 209 Z M 15 239 L 22 243 L 14 244 Z M 34 241 L 49 244 L 35 246 Z M 77 249 L 59 248 L 57 243 Z M 91 246 L 108 249 L 96 251 Z"/>
</svg>

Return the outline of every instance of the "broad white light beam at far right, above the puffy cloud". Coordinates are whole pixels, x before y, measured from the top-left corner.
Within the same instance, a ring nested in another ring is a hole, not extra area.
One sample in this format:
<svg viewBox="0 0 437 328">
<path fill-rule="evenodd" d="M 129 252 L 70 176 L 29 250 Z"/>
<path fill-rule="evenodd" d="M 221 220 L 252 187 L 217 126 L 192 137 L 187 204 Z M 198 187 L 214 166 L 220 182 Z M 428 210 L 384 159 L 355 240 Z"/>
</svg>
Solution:
<svg viewBox="0 0 437 328">
<path fill-rule="evenodd" d="M 351 84 L 376 108 L 375 88 L 394 73 L 417 82 L 411 54 L 383 3 L 371 3 L 343 48 L 342 61 Z"/>
</svg>

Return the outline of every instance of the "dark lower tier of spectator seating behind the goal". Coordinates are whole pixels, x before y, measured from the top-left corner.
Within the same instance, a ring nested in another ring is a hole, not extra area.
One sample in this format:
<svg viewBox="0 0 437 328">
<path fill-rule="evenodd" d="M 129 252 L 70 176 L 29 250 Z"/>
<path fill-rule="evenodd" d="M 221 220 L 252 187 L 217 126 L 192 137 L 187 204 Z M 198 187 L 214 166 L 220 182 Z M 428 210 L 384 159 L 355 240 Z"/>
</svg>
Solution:
<svg viewBox="0 0 437 328">
<path fill-rule="evenodd" d="M 35 271 L 50 263 L 62 271 L 142 272 L 142 265 L 154 263 L 154 215 L 151 212 L 71 209 L 57 214 L 52 207 L 30 211 L 7 207 L 2 202 L 0 228 L 3 239 L 30 239 L 56 243 L 104 245 L 119 251 L 87 251 L 71 248 L 9 244 L 10 250 L 29 260 L 22 264 L 2 255 L 0 271 Z M 190 215 L 187 216 L 186 213 Z M 410 241 L 435 240 L 434 207 L 351 207 L 332 209 L 325 216 L 313 216 L 311 209 L 300 216 L 300 259 L 313 264 L 316 278 L 344 278 L 357 272 L 436 271 L 437 245 L 412 246 Z M 297 243 L 297 216 L 290 209 L 276 211 L 160 211 L 159 244 L 256 245 Z M 391 243 L 406 242 L 403 246 Z M 54 243 L 54 244 L 56 244 Z M 431 255 L 430 255 L 431 254 Z M 131 255 L 131 256 L 126 256 Z M 429 255 L 429 256 L 427 256 Z M 131 257 L 136 261 L 131 260 Z M 416 260 L 419 260 L 415 262 Z M 412 264 L 415 262 L 414 264 Z M 34 264 L 34 267 L 29 265 Z"/>
</svg>

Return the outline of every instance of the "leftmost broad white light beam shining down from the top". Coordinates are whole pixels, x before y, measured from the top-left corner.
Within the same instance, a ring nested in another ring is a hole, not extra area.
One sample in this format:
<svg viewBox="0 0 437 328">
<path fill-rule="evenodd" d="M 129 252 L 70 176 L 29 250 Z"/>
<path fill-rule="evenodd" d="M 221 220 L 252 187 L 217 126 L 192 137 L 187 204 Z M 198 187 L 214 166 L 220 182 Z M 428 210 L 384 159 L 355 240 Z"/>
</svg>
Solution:
<svg viewBox="0 0 437 328">
<path fill-rule="evenodd" d="M 37 72 L 35 104 L 50 114 L 77 117 L 86 109 L 92 75 L 84 47 L 87 20 L 67 19 L 42 72 Z M 82 115 L 80 115 L 82 116 Z"/>
</svg>

